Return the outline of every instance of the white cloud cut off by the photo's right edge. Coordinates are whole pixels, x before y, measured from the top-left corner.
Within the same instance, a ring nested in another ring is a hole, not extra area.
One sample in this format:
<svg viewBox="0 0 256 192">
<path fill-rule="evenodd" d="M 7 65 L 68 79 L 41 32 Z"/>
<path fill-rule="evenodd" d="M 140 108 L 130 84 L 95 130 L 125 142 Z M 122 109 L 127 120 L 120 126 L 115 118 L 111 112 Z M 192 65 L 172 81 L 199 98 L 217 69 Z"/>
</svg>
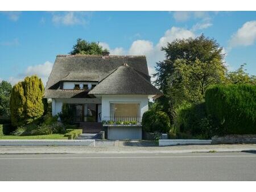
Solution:
<svg viewBox="0 0 256 192">
<path fill-rule="evenodd" d="M 238 46 L 248 46 L 256 41 L 256 20 L 251 20 L 243 24 L 241 28 L 232 35 L 229 45 L 230 48 Z"/>
</svg>

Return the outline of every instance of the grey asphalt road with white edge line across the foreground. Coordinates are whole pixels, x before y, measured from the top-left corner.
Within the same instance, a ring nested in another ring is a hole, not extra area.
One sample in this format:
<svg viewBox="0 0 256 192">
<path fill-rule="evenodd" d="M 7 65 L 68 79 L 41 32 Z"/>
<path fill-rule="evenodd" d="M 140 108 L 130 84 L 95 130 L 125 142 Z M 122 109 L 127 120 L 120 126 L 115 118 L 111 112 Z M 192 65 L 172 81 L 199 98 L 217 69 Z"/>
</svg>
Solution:
<svg viewBox="0 0 256 192">
<path fill-rule="evenodd" d="M 0 181 L 256 181 L 256 154 L 0 155 Z"/>
</svg>

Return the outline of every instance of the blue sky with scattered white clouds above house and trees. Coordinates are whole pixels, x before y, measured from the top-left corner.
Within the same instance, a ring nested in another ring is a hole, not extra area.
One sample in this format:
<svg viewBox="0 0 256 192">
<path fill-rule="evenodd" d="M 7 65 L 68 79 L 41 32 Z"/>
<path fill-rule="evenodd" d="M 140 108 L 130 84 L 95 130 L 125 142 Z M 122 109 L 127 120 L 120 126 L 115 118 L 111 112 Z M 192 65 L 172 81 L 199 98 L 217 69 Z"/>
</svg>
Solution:
<svg viewBox="0 0 256 192">
<path fill-rule="evenodd" d="M 112 55 L 146 55 L 153 73 L 167 41 L 204 33 L 224 47 L 229 70 L 246 62 L 256 74 L 255 11 L 0 12 L 0 28 L 0 80 L 13 84 L 35 73 L 45 83 L 56 55 L 79 37 Z"/>
</svg>

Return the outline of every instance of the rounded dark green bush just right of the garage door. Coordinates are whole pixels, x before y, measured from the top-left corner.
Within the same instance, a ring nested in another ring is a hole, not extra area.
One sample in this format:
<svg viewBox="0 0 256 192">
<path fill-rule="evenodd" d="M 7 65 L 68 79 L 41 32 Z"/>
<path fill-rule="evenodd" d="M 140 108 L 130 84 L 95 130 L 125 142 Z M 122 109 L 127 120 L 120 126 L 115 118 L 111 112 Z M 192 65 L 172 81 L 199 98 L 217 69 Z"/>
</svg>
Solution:
<svg viewBox="0 0 256 192">
<path fill-rule="evenodd" d="M 170 119 L 166 112 L 148 110 L 142 116 L 142 129 L 147 132 L 168 132 Z"/>
</svg>

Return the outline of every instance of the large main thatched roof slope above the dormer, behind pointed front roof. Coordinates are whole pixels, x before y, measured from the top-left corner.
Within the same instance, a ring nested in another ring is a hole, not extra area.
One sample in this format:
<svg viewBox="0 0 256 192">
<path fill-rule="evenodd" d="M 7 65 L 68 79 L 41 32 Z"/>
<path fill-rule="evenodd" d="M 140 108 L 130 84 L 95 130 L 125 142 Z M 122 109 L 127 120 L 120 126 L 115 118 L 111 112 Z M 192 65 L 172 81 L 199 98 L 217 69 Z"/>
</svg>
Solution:
<svg viewBox="0 0 256 192">
<path fill-rule="evenodd" d="M 100 81 L 124 63 L 150 80 L 145 56 L 57 55 L 46 89 L 56 89 L 60 81 Z"/>
</svg>

